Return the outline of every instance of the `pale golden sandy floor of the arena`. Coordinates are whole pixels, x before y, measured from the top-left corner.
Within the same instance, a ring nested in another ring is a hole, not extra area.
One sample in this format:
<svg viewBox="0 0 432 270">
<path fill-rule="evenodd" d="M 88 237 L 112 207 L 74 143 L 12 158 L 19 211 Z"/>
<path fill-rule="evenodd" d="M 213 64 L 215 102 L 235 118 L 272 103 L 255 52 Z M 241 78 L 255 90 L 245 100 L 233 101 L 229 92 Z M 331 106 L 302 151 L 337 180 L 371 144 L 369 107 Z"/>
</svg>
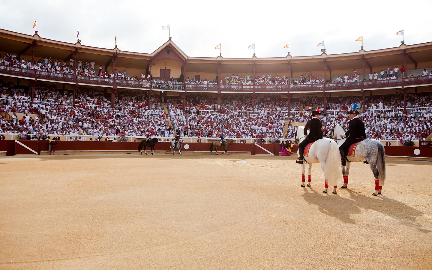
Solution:
<svg viewBox="0 0 432 270">
<path fill-rule="evenodd" d="M 361 163 L 334 195 L 280 156 L 1 157 L 0 269 L 431 269 L 432 162 L 387 170 L 375 197 Z"/>
</svg>

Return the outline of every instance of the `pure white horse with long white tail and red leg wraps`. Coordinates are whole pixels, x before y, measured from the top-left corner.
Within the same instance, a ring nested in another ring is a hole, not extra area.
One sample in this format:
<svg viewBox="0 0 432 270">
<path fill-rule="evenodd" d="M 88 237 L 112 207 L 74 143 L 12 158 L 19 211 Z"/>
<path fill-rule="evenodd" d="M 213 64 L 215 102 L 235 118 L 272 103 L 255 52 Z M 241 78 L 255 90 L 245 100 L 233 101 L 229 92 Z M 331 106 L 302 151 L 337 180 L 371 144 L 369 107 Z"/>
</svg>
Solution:
<svg viewBox="0 0 432 270">
<path fill-rule="evenodd" d="M 300 126 L 295 130 L 295 140 L 294 143 L 301 143 L 305 140 L 304 135 L 305 127 Z M 299 151 L 297 151 L 299 155 Z M 330 139 L 320 139 L 316 140 L 308 151 L 308 156 L 304 156 L 303 160 L 309 163 L 308 169 L 308 184 L 311 186 L 311 170 L 312 163 L 320 163 L 321 168 L 324 172 L 325 185 L 323 193 L 327 193 L 327 188 L 333 186 L 333 194 L 336 194 L 337 184 L 341 181 L 340 175 L 340 152 L 337 143 Z M 302 164 L 302 187 L 305 186 L 305 163 Z"/>
</svg>

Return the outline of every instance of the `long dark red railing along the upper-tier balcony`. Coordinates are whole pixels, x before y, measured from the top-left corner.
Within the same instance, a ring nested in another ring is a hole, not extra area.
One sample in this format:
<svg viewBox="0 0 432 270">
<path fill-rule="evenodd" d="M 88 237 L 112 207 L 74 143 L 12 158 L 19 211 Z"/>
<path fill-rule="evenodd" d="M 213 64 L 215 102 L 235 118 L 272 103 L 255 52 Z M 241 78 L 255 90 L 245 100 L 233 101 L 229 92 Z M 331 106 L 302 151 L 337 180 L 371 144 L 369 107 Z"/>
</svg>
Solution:
<svg viewBox="0 0 432 270">
<path fill-rule="evenodd" d="M 114 86 L 114 79 L 98 78 L 89 76 L 76 76 L 73 74 L 52 73 L 40 70 L 29 70 L 20 67 L 9 67 L 0 65 L 0 74 L 21 76 L 27 78 L 49 79 L 61 82 L 86 83 L 100 86 Z M 116 79 L 115 84 L 118 87 L 130 88 L 150 88 L 154 89 L 174 89 L 184 90 L 183 84 L 161 84 L 149 83 L 143 81 L 130 81 Z M 325 83 L 325 84 L 289 84 L 289 85 L 226 85 L 221 84 L 186 84 L 187 91 L 229 91 L 229 92 L 294 92 L 294 91 L 329 91 L 329 90 L 349 90 L 349 89 L 372 89 L 372 88 L 391 88 L 403 86 L 415 86 L 432 84 L 432 76 L 406 77 L 390 80 L 373 80 L 358 83 Z"/>
</svg>

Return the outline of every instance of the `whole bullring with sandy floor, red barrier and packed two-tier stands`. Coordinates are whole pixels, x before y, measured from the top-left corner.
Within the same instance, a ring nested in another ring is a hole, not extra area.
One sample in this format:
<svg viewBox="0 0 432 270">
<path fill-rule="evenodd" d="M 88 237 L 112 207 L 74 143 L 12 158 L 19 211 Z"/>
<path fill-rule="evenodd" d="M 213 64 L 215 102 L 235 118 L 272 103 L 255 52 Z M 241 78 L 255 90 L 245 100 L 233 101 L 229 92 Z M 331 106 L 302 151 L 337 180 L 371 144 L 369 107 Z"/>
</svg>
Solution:
<svg viewBox="0 0 432 270">
<path fill-rule="evenodd" d="M 115 42 L 0 29 L 0 269 L 432 269 L 432 42 L 250 58 Z M 335 145 L 356 107 L 381 193 L 362 162 L 344 182 L 341 156 L 336 194 L 318 164 L 302 187 L 296 131 L 319 110 Z M 210 155 L 221 136 L 229 155 Z"/>
</svg>

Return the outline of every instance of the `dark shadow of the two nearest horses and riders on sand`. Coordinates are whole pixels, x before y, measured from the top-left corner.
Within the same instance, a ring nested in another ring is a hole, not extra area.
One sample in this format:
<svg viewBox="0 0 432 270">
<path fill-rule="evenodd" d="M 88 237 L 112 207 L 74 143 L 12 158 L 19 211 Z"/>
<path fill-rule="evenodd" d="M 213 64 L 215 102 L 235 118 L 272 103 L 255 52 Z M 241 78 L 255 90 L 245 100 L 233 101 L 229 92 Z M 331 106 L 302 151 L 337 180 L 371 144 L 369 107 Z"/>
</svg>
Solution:
<svg viewBox="0 0 432 270">
<path fill-rule="evenodd" d="M 384 195 L 370 197 L 364 196 L 350 189 L 346 189 L 350 197 L 343 198 L 334 194 L 318 193 L 313 188 L 305 188 L 301 196 L 309 204 L 318 206 L 321 213 L 339 219 L 345 223 L 356 224 L 351 215 L 359 214 L 362 209 L 373 210 L 397 220 L 400 224 L 417 229 L 419 232 L 432 233 L 429 229 L 423 229 L 416 221 L 417 217 L 423 215 L 405 203 L 390 199 Z M 371 193 L 372 194 L 372 193 Z M 333 197 L 333 198 L 329 198 Z"/>
</svg>

